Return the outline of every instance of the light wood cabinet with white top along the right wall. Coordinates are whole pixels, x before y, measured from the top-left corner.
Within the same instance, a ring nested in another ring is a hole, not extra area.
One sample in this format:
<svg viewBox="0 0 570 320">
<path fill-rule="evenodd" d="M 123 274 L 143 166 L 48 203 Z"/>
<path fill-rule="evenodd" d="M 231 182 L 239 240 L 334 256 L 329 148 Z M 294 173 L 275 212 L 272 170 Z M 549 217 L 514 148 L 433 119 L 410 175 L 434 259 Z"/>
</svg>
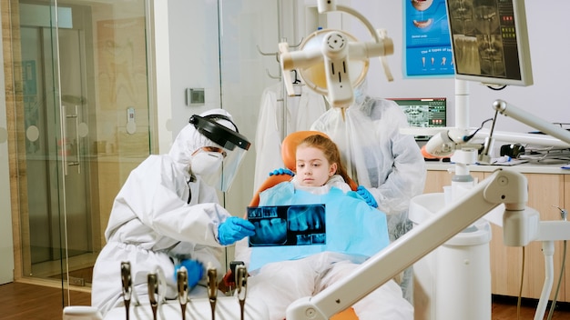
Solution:
<svg viewBox="0 0 570 320">
<path fill-rule="evenodd" d="M 424 193 L 443 193 L 444 185 L 451 185 L 454 165 L 444 163 L 427 163 L 427 177 Z M 541 221 L 561 220 L 559 208 L 570 208 L 570 170 L 561 169 L 557 165 L 514 165 L 504 167 L 506 170 L 520 172 L 528 179 L 527 205 L 540 213 Z M 469 165 L 473 178 L 482 181 L 491 175 L 499 166 Z M 569 222 L 570 223 L 570 222 Z M 534 241 L 523 248 L 509 247 L 503 244 L 503 229 L 491 224 L 492 239 L 490 242 L 491 286 L 494 295 L 518 296 L 521 284 L 521 272 L 524 257 L 524 274 L 522 296 L 538 299 L 545 282 L 545 257 L 542 244 Z M 570 237 L 570 235 L 569 235 Z M 560 268 L 563 263 L 564 243 L 555 243 L 555 278 L 550 295 L 555 296 Z M 565 264 L 565 273 L 557 296 L 557 301 L 570 302 L 570 266 Z"/>
</svg>

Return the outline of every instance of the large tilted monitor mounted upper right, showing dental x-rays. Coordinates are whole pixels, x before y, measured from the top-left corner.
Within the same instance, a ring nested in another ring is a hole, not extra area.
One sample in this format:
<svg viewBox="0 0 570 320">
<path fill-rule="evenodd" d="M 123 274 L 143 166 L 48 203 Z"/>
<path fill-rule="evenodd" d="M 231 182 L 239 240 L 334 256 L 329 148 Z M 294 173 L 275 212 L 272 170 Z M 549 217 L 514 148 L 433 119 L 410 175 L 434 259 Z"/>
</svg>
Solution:
<svg viewBox="0 0 570 320">
<path fill-rule="evenodd" d="M 533 85 L 524 0 L 447 0 L 457 79 Z"/>
</svg>

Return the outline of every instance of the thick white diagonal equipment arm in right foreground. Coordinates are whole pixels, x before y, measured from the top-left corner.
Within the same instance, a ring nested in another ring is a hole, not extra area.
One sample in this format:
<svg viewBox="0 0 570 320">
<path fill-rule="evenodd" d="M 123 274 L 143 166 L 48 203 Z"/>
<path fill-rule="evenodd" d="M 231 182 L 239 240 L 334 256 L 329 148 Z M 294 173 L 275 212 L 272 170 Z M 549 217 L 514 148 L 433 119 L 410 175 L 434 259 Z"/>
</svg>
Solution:
<svg viewBox="0 0 570 320">
<path fill-rule="evenodd" d="M 354 305 L 467 226 L 504 204 L 505 245 L 527 245 L 537 235 L 538 213 L 527 208 L 526 177 L 498 169 L 422 225 L 373 255 L 351 276 L 320 294 L 297 300 L 287 309 L 290 320 L 324 320 Z M 513 232 L 515 231 L 515 232 Z"/>
</svg>

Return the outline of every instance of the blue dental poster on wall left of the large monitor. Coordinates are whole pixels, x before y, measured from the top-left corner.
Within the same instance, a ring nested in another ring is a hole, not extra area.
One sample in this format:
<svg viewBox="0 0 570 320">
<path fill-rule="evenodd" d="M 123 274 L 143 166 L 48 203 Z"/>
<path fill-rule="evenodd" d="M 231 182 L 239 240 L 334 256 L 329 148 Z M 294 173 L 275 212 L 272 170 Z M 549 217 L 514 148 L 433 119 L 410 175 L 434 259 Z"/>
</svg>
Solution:
<svg viewBox="0 0 570 320">
<path fill-rule="evenodd" d="M 404 1 L 404 75 L 454 75 L 445 0 Z"/>
</svg>

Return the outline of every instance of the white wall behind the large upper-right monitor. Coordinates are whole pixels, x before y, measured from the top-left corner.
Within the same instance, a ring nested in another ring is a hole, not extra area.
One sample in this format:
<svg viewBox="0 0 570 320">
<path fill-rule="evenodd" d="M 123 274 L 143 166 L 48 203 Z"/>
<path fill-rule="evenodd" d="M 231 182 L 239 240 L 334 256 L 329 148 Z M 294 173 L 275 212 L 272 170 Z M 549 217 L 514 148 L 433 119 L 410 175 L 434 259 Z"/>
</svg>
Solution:
<svg viewBox="0 0 570 320">
<path fill-rule="evenodd" d="M 565 105 L 568 93 L 570 64 L 567 53 L 570 43 L 565 40 L 565 14 L 570 3 L 555 1 L 555 5 L 544 5 L 540 1 L 525 1 L 527 28 L 531 48 L 534 85 L 528 87 L 508 86 L 502 91 L 494 91 L 483 85 L 470 83 L 470 125 L 481 125 L 483 120 L 494 115 L 492 103 L 501 98 L 524 110 L 542 117 L 548 122 L 570 123 L 570 113 Z M 454 80 L 404 79 L 403 78 L 403 5 L 401 1 L 352 0 L 351 5 L 365 15 L 377 28 L 388 30 L 394 41 L 395 53 L 389 57 L 394 81 L 388 83 L 383 76 L 380 63 L 372 61 L 369 72 L 369 89 L 373 95 L 382 97 L 421 97 L 445 96 L 449 100 L 448 125 L 454 125 Z M 370 38 L 363 27 L 351 26 L 355 35 L 366 40 Z M 485 127 L 489 127 L 486 125 Z M 500 115 L 495 130 L 524 133 L 534 130 L 512 118 Z"/>
</svg>

